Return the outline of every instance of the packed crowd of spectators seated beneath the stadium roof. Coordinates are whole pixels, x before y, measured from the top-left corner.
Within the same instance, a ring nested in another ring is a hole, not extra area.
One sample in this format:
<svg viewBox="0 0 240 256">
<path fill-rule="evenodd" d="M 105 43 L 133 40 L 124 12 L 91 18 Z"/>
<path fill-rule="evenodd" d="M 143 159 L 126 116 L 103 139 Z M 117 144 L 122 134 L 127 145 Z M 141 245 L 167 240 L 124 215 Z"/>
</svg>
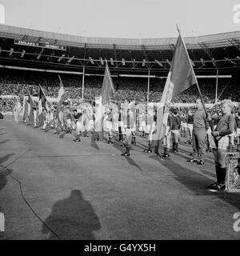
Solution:
<svg viewBox="0 0 240 256">
<path fill-rule="evenodd" d="M 68 98 L 82 98 L 82 75 L 61 74 L 62 83 L 65 87 Z M 85 77 L 84 98 L 92 101 L 99 96 L 102 91 L 102 76 Z M 146 102 L 147 99 L 147 78 L 123 78 L 113 77 L 116 93 L 113 100 L 118 102 L 133 101 Z M 150 102 L 159 102 L 162 97 L 166 79 L 150 78 Z M 199 87 L 202 92 L 204 102 L 214 103 L 215 100 L 215 79 L 198 79 Z M 59 78 L 58 74 L 41 73 L 23 70 L 2 70 L 0 74 L 0 97 L 1 95 L 23 96 L 30 92 L 33 96 L 38 96 L 39 85 L 42 86 L 46 96 L 52 98 L 58 97 Z M 231 82 L 229 78 L 219 79 L 218 95 L 223 88 L 228 85 L 223 98 L 230 98 L 233 101 L 239 101 L 238 85 Z M 196 86 L 191 86 L 189 90 L 182 92 L 173 99 L 174 103 L 193 103 L 199 98 Z M 5 103 L 4 103 L 5 102 Z M 0 111 L 12 110 L 14 100 L 4 100 L 1 102 Z"/>
</svg>

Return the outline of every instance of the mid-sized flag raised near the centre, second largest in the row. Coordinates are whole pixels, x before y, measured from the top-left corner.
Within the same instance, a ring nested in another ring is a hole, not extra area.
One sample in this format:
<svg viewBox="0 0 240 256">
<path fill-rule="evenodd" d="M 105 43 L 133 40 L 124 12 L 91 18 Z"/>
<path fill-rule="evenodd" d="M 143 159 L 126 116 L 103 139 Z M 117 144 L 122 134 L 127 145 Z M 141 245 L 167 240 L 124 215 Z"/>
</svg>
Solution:
<svg viewBox="0 0 240 256">
<path fill-rule="evenodd" d="M 106 105 L 109 99 L 114 95 L 114 83 L 110 75 L 110 70 L 106 62 L 105 74 L 102 82 L 102 105 Z"/>
</svg>

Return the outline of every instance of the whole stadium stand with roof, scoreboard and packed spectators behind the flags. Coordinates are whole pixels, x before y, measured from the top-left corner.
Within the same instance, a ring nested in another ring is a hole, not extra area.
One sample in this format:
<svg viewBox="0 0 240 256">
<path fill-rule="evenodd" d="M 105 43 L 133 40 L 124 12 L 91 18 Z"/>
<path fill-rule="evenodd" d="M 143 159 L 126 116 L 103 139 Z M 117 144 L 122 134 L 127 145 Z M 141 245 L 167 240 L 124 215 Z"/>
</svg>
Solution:
<svg viewBox="0 0 240 256">
<path fill-rule="evenodd" d="M 227 86 L 222 99 L 239 101 L 239 38 L 239 31 L 185 38 L 196 75 L 214 77 L 218 70 L 219 75 L 232 77 L 218 79 L 218 95 Z M 147 75 L 150 74 L 149 101 L 159 102 L 176 39 L 142 39 L 140 43 L 138 39 L 84 38 L 0 25 L 0 97 L 22 97 L 28 91 L 38 96 L 39 85 L 46 96 L 56 97 L 60 74 L 67 96 L 79 99 L 84 73 L 84 99 L 92 101 L 101 92 L 107 60 L 116 88 L 114 100 L 146 102 Z M 199 78 L 198 83 L 204 101 L 213 103 L 216 78 Z M 190 103 L 196 98 L 198 91 L 192 86 L 173 102 Z M 2 110 L 10 111 L 13 105 L 14 98 L 2 98 Z"/>
</svg>

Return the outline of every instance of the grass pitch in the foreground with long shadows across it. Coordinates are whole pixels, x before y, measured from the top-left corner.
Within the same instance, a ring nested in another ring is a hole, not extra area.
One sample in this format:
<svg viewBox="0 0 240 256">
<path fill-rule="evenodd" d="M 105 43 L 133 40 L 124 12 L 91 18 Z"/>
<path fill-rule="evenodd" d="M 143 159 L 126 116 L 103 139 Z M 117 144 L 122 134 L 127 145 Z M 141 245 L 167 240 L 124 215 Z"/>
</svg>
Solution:
<svg viewBox="0 0 240 256">
<path fill-rule="evenodd" d="M 165 159 L 142 153 L 140 137 L 129 158 L 120 142 L 73 138 L 0 120 L 0 239 L 240 238 L 233 229 L 240 195 L 206 188 L 215 180 L 211 153 L 198 166 L 186 162 L 185 138 Z"/>
</svg>

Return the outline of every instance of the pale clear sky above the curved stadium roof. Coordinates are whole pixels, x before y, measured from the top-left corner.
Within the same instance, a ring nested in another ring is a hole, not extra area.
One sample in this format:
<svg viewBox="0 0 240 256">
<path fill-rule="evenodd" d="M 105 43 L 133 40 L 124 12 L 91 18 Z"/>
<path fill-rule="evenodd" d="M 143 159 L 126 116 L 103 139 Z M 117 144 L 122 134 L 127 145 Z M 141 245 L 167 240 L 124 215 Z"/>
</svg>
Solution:
<svg viewBox="0 0 240 256">
<path fill-rule="evenodd" d="M 240 0 L 0 0 L 0 4 L 6 25 L 84 37 L 177 37 L 176 23 L 183 37 L 240 30 Z"/>
</svg>

